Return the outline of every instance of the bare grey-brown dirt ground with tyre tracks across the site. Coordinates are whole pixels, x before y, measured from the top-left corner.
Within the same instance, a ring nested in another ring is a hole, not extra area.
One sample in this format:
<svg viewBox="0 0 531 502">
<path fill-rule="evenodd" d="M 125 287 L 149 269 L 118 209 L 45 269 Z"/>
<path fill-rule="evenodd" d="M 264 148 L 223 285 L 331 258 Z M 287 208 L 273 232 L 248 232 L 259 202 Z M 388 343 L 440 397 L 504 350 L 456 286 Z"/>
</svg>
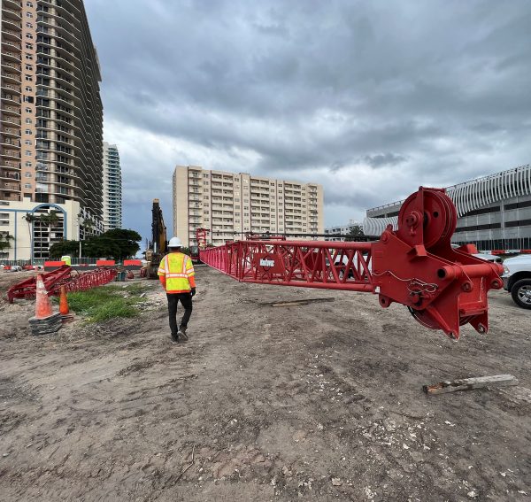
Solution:
<svg viewBox="0 0 531 502">
<path fill-rule="evenodd" d="M 179 345 L 157 282 L 139 318 L 53 336 L 0 305 L 2 500 L 531 500 L 531 312 L 507 293 L 456 343 L 370 294 L 196 276 Z M 422 392 L 497 374 L 519 386 Z"/>
</svg>

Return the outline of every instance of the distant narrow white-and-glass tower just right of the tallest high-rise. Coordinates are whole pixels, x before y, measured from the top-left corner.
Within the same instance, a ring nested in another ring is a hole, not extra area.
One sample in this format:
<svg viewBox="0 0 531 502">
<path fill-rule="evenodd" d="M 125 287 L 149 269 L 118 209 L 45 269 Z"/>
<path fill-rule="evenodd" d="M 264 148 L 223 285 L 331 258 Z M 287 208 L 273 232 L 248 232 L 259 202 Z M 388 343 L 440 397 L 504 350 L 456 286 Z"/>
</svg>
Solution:
<svg viewBox="0 0 531 502">
<path fill-rule="evenodd" d="M 115 144 L 104 142 L 104 229 L 121 228 L 121 171 Z"/>
</svg>

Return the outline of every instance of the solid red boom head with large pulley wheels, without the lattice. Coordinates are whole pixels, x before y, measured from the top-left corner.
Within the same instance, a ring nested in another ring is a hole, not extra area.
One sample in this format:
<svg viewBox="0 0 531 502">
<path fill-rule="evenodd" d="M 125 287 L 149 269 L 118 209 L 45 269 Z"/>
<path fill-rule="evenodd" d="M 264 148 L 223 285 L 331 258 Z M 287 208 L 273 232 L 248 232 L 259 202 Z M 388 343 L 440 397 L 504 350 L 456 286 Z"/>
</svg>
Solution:
<svg viewBox="0 0 531 502">
<path fill-rule="evenodd" d="M 456 340 L 466 323 L 488 331 L 487 293 L 503 286 L 501 265 L 473 256 L 473 245 L 451 247 L 457 220 L 444 189 L 420 187 L 402 205 L 396 231 L 389 226 L 373 243 L 372 271 L 381 306 L 406 305 L 420 324 Z"/>
</svg>

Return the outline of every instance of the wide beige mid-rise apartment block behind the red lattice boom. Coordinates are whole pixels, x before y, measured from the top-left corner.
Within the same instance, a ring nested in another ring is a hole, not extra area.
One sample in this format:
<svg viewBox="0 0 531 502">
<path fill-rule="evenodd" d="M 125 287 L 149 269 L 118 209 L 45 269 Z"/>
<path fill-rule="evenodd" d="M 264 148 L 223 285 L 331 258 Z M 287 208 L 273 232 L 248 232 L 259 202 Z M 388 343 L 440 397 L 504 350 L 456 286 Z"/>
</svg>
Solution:
<svg viewBox="0 0 531 502">
<path fill-rule="evenodd" d="M 195 245 L 196 228 L 209 229 L 214 245 L 248 233 L 323 234 L 323 189 L 317 183 L 176 166 L 173 234 L 185 246 Z"/>
</svg>

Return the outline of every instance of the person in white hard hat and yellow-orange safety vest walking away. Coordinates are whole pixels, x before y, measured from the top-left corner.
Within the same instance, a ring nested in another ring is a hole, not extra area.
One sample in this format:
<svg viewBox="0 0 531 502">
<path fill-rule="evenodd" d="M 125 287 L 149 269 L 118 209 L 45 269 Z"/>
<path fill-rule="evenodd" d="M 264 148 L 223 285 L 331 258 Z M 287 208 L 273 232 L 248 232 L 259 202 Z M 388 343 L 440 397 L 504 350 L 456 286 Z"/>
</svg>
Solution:
<svg viewBox="0 0 531 502">
<path fill-rule="evenodd" d="M 194 266 L 190 257 L 181 253 L 181 247 L 181 239 L 172 237 L 168 243 L 170 252 L 165 255 L 158 266 L 158 278 L 168 298 L 173 344 L 178 344 L 180 338 L 188 340 L 186 330 L 192 314 L 192 297 L 196 294 Z M 177 305 L 180 301 L 184 307 L 184 315 L 177 329 Z"/>
</svg>

